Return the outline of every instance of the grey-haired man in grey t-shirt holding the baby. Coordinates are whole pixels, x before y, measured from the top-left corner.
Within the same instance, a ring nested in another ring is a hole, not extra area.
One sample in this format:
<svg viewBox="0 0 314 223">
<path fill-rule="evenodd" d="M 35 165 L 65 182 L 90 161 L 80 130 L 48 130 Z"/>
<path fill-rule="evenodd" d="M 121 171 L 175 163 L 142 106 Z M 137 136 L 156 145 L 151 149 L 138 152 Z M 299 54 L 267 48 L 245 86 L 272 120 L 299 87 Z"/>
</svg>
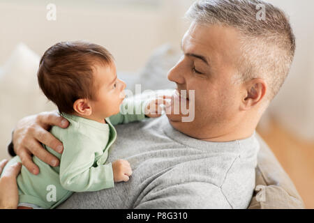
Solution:
<svg viewBox="0 0 314 223">
<path fill-rule="evenodd" d="M 260 3 L 264 20 L 256 16 Z M 181 112 L 118 125 L 123 140 L 107 162 L 128 160 L 133 176 L 112 189 L 75 193 L 59 208 L 247 208 L 259 149 L 255 128 L 290 70 L 294 35 L 285 14 L 262 1 L 198 1 L 186 16 L 183 55 L 168 79 L 187 91 L 180 96 L 193 100 L 195 118 L 184 122 Z M 14 151 L 33 174 L 40 170 L 32 154 L 59 164 L 40 146 L 62 153 L 61 141 L 47 132 L 51 125 L 68 123 L 46 112 L 15 128 Z"/>
</svg>

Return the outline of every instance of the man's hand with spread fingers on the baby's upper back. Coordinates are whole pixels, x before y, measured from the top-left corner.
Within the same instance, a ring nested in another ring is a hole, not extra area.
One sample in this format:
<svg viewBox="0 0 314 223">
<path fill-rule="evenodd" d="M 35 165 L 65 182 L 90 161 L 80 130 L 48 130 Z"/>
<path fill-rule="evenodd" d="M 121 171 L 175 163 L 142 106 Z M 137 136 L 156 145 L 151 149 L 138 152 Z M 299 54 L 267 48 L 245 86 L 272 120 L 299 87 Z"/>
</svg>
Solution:
<svg viewBox="0 0 314 223">
<path fill-rule="evenodd" d="M 36 155 L 43 162 L 53 167 L 59 165 L 57 157 L 43 149 L 43 143 L 57 153 L 63 152 L 61 141 L 56 139 L 50 132 L 51 125 L 58 125 L 61 128 L 68 127 L 68 121 L 54 112 L 42 112 L 37 115 L 22 118 L 17 123 L 13 132 L 14 151 L 20 156 L 22 164 L 33 174 L 39 173 L 39 168 L 33 163 L 31 155 Z"/>
</svg>

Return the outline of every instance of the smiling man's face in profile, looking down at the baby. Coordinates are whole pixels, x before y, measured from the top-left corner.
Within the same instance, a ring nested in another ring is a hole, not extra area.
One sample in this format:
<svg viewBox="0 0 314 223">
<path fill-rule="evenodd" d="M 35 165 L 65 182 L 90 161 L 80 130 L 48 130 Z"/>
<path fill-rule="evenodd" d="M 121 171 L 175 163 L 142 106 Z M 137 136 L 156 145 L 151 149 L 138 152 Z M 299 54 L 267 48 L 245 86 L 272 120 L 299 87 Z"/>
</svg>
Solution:
<svg viewBox="0 0 314 223">
<path fill-rule="evenodd" d="M 179 92 L 186 90 L 189 100 L 195 100 L 195 118 L 182 122 L 182 114 L 168 114 L 171 125 L 197 139 L 233 131 L 239 122 L 243 91 L 241 84 L 234 84 L 240 56 L 237 31 L 193 22 L 181 46 L 184 55 L 170 70 L 168 79 L 176 82 Z M 195 99 L 189 97 L 190 90 L 195 90 Z"/>
</svg>

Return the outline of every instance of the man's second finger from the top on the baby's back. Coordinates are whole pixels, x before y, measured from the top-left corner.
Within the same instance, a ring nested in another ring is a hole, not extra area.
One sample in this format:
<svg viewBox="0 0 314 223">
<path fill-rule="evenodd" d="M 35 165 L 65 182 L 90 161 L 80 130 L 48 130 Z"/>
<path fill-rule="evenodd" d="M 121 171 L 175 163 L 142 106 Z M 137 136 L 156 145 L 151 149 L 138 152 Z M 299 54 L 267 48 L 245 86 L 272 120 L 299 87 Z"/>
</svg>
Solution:
<svg viewBox="0 0 314 223">
<path fill-rule="evenodd" d="M 33 133 L 35 138 L 40 141 L 41 143 L 45 144 L 46 146 L 49 146 L 57 153 L 63 152 L 63 145 L 61 141 L 56 139 L 50 132 L 43 128 L 36 128 Z M 41 147 L 41 146 L 40 146 Z M 38 156 L 36 153 L 33 153 L 34 155 Z M 41 160 L 41 159 L 40 159 Z"/>
</svg>

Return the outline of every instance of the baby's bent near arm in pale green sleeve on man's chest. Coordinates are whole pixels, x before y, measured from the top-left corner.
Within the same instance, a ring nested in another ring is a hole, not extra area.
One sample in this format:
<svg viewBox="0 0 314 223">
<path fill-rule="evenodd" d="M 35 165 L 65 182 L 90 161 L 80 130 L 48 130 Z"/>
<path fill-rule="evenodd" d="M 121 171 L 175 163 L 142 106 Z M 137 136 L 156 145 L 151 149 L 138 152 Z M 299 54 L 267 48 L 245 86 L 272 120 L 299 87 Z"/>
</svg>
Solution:
<svg viewBox="0 0 314 223">
<path fill-rule="evenodd" d="M 60 182 L 74 192 L 103 190 L 114 187 L 112 164 L 95 166 L 96 142 L 82 133 L 64 136 L 60 162 Z"/>
</svg>

